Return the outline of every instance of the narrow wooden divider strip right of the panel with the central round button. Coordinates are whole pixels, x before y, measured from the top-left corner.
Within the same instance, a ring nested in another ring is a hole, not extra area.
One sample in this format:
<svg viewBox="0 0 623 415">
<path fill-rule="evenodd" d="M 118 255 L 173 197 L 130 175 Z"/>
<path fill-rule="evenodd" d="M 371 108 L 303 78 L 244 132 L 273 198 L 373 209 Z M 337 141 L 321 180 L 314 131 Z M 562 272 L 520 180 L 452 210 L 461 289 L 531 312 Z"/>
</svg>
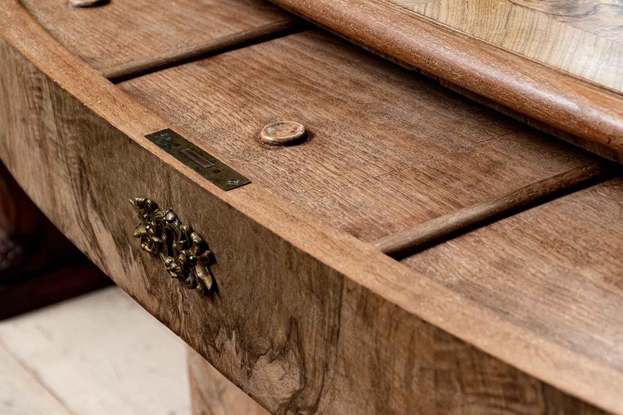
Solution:
<svg viewBox="0 0 623 415">
<path fill-rule="evenodd" d="M 407 229 L 378 239 L 373 245 L 394 258 L 414 254 L 418 250 L 426 249 L 439 242 L 451 239 L 475 227 L 497 221 L 509 216 L 519 209 L 526 209 L 532 205 L 569 193 L 578 186 L 586 186 L 598 180 L 606 180 L 612 176 L 614 166 L 611 163 L 597 162 L 590 166 L 582 166 L 556 174 L 551 178 L 528 184 L 523 188 L 498 196 L 495 199 L 484 201 L 473 206 L 464 207 L 459 211 L 435 217 L 416 227 Z"/>
</svg>

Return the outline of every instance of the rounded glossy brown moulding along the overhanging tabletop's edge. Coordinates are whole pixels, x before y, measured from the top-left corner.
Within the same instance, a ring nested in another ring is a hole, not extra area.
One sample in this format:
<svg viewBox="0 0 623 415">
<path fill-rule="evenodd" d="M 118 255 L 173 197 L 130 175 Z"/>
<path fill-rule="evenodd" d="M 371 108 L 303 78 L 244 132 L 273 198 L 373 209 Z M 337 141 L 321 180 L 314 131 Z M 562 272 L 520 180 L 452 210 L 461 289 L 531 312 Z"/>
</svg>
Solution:
<svg viewBox="0 0 623 415">
<path fill-rule="evenodd" d="M 272 0 L 356 44 L 623 152 L 623 97 L 385 0 Z"/>
</svg>

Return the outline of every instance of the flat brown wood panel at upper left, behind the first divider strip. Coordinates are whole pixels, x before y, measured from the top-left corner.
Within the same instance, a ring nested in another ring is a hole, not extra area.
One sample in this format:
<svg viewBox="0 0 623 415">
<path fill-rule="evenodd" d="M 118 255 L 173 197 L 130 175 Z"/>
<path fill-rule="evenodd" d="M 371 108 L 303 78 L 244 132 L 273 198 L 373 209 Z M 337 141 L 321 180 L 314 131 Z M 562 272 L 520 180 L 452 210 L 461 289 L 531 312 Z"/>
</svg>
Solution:
<svg viewBox="0 0 623 415">
<path fill-rule="evenodd" d="M 287 19 L 262 0 L 110 1 L 70 9 L 67 0 L 20 0 L 41 26 L 104 70 Z"/>
</svg>

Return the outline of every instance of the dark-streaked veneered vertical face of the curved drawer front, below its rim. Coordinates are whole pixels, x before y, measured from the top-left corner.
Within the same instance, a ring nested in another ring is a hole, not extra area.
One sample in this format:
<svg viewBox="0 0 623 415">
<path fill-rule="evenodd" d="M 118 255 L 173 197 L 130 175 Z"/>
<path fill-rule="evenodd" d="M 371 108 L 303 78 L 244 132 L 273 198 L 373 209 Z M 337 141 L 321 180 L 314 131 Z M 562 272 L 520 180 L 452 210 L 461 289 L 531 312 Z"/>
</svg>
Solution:
<svg viewBox="0 0 623 415">
<path fill-rule="evenodd" d="M 199 191 L 194 181 L 150 158 L 101 118 L 93 119 L 54 82 L 40 80 L 59 133 L 45 135 L 37 154 L 61 155 L 54 170 L 68 177 L 57 181 L 49 174 L 53 187 L 34 183 L 37 200 L 54 200 L 49 214 L 66 234 L 120 287 L 270 413 L 497 414 L 502 406 L 547 414 L 549 400 L 556 406 L 574 401 L 345 279 L 219 203 L 214 194 Z M 34 114 L 40 119 L 44 113 Z M 21 143 L 33 148 L 30 141 Z M 111 145 L 117 150 L 107 151 Z M 20 169 L 17 163 L 9 165 Z M 111 178 L 110 166 L 124 168 Z M 154 181 L 163 170 L 166 181 Z M 240 188 L 239 194 L 253 194 L 250 186 Z M 62 192 L 62 197 L 53 199 L 45 189 Z M 137 219 L 117 201 L 143 193 L 163 206 L 175 206 L 209 241 L 216 258 L 211 269 L 219 286 L 212 298 L 186 290 L 166 275 L 158 260 L 141 252 L 131 236 Z M 260 201 L 265 203 L 254 203 Z M 309 219 L 306 215 L 298 222 L 298 232 Z M 392 327 L 395 331 L 389 330 Z M 445 348 L 450 349 L 447 355 Z M 456 366 L 448 369 L 447 359 L 457 359 Z M 464 369 L 467 362 L 472 363 Z M 431 374 L 422 376 L 426 373 Z M 472 376 L 483 386 L 470 388 Z M 505 388 L 521 393 L 506 396 Z M 600 413 L 587 408 L 587 413 Z"/>
</svg>

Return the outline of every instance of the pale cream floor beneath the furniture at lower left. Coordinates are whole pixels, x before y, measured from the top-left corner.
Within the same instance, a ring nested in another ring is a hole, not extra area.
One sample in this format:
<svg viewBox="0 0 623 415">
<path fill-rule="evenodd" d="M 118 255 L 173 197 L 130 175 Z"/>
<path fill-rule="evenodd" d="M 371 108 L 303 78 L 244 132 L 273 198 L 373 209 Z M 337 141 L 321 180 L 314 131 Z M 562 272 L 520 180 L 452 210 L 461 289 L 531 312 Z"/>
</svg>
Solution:
<svg viewBox="0 0 623 415">
<path fill-rule="evenodd" d="M 118 287 L 0 321 L 2 415 L 188 415 L 186 346 Z"/>
</svg>

